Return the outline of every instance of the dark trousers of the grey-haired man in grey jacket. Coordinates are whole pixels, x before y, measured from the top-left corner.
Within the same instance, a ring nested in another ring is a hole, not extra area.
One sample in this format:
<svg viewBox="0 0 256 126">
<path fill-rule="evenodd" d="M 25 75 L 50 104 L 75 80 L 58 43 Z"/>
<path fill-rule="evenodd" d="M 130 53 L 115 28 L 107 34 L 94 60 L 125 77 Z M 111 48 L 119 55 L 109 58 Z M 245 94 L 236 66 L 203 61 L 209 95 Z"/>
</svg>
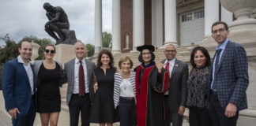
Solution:
<svg viewBox="0 0 256 126">
<path fill-rule="evenodd" d="M 70 99 L 70 126 L 77 126 L 79 120 L 79 113 L 81 112 L 81 125 L 89 126 L 89 117 L 91 111 L 91 100 L 89 94 L 86 93 L 85 96 L 79 96 L 78 94 L 73 94 Z"/>
</svg>

